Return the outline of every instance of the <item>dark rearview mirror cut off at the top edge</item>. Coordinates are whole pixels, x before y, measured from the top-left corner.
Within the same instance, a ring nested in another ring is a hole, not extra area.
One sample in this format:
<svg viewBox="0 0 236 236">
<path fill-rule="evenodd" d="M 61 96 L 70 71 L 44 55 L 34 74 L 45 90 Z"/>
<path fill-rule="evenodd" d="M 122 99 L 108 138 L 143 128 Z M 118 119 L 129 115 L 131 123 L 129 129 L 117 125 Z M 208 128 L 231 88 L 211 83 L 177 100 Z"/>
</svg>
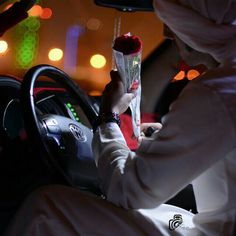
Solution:
<svg viewBox="0 0 236 236">
<path fill-rule="evenodd" d="M 152 0 L 94 0 L 95 4 L 120 11 L 153 11 Z"/>
</svg>

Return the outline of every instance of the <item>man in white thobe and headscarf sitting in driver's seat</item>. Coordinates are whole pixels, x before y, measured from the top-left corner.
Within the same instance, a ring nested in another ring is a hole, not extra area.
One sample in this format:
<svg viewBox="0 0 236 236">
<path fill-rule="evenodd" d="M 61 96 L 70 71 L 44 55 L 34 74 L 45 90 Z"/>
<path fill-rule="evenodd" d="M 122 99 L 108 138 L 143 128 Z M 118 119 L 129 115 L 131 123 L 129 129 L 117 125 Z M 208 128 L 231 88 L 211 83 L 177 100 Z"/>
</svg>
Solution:
<svg viewBox="0 0 236 236">
<path fill-rule="evenodd" d="M 49 186 L 25 201 L 6 235 L 236 235 L 236 1 L 153 4 L 175 37 L 220 66 L 188 83 L 136 152 L 116 122 L 98 126 L 93 150 L 106 200 Z M 103 112 L 121 113 L 132 95 L 111 76 Z M 198 214 L 163 204 L 189 183 Z"/>
</svg>

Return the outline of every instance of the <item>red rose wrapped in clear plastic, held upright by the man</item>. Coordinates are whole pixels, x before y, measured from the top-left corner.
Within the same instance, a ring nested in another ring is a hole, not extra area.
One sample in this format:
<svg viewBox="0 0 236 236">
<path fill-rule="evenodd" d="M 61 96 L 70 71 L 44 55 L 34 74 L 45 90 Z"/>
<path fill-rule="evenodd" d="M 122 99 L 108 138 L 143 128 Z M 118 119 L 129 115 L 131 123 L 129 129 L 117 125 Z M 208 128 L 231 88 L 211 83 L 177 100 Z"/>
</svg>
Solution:
<svg viewBox="0 0 236 236">
<path fill-rule="evenodd" d="M 113 55 L 116 68 L 124 82 L 126 92 L 135 92 L 130 103 L 133 133 L 140 136 L 140 102 L 141 102 L 141 56 L 142 42 L 130 34 L 117 37 L 113 43 Z"/>
</svg>

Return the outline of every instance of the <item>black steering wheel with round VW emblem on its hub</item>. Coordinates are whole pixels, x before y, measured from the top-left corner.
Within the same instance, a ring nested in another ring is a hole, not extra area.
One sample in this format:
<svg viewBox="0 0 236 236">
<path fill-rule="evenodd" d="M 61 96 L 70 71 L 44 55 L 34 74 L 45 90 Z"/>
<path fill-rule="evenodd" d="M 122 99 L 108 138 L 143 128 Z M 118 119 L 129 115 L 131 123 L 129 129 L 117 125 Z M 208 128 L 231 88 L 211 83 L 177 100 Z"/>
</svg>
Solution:
<svg viewBox="0 0 236 236">
<path fill-rule="evenodd" d="M 88 96 L 62 70 L 50 65 L 32 67 L 21 85 L 20 103 L 29 141 L 42 153 L 44 163 L 63 179 L 63 184 L 100 194 L 99 178 L 94 162 L 90 128 L 73 119 L 54 114 L 39 115 L 34 87 L 38 77 L 47 76 L 73 96 L 91 125 L 97 111 Z"/>
</svg>

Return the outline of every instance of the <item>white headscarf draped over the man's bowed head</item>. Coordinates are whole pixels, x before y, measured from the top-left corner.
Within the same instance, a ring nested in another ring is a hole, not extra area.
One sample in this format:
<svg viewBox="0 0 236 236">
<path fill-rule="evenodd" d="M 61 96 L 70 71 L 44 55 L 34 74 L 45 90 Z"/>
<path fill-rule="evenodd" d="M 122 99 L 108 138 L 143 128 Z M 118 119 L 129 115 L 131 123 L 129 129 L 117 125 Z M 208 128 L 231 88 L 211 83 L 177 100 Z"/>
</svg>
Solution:
<svg viewBox="0 0 236 236">
<path fill-rule="evenodd" d="M 160 19 L 186 44 L 217 61 L 236 60 L 236 0 L 154 0 Z"/>
</svg>

